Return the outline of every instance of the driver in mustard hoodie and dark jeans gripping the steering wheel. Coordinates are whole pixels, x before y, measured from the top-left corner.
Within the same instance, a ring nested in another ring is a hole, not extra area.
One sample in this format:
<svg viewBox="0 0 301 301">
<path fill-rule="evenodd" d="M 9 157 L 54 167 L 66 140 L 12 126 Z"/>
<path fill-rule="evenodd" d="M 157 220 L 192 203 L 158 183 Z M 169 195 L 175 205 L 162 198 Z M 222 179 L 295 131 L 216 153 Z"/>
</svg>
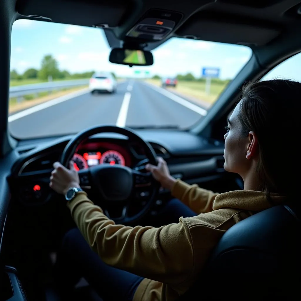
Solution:
<svg viewBox="0 0 301 301">
<path fill-rule="evenodd" d="M 148 165 L 178 199 L 166 206 L 156 228 L 115 225 L 79 191 L 67 203 L 78 229 L 65 235 L 58 256 L 61 286 L 83 276 L 104 300 L 173 301 L 185 293 L 225 231 L 284 203 L 298 187 L 290 175 L 300 165 L 291 146 L 300 130 L 300 95 L 301 83 L 288 80 L 244 87 L 224 136 L 224 168 L 241 176 L 243 190 L 213 193 L 172 178 L 160 158 L 158 166 Z M 72 166 L 54 163 L 50 187 L 61 194 L 79 188 Z"/>
</svg>

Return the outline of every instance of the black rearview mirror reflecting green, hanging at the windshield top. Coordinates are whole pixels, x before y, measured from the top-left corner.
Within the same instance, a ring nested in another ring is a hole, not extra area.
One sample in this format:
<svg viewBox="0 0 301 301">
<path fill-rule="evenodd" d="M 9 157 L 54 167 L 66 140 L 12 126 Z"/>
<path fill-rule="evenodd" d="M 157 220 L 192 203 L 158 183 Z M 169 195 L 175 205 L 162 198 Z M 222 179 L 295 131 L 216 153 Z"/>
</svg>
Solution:
<svg viewBox="0 0 301 301">
<path fill-rule="evenodd" d="M 109 61 L 115 64 L 132 66 L 151 66 L 154 64 L 153 54 L 150 51 L 113 48 Z"/>
</svg>

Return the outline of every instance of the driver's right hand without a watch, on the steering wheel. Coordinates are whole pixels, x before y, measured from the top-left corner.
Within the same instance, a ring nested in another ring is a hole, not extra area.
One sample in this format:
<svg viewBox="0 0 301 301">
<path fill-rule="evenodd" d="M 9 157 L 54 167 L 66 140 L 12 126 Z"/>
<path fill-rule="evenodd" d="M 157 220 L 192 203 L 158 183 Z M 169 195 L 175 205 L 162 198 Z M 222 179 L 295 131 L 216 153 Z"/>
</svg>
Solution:
<svg viewBox="0 0 301 301">
<path fill-rule="evenodd" d="M 162 157 L 157 157 L 157 162 L 157 166 L 147 164 L 145 169 L 152 173 L 154 179 L 160 182 L 163 188 L 171 190 L 176 179 L 170 175 L 168 166 Z"/>
</svg>

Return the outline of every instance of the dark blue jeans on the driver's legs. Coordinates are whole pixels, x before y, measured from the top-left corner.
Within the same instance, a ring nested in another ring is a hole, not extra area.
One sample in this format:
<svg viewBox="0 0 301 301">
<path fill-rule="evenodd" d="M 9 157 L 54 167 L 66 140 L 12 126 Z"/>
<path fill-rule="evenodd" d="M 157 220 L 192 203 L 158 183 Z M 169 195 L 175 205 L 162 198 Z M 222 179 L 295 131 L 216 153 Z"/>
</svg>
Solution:
<svg viewBox="0 0 301 301">
<path fill-rule="evenodd" d="M 148 225 L 160 227 L 178 223 L 181 216 L 195 215 L 181 201 L 173 199 L 156 218 L 148 221 L 151 223 Z M 98 254 L 92 251 L 77 228 L 68 231 L 64 236 L 62 250 L 57 257 L 57 272 L 58 281 L 65 291 L 74 287 L 77 281 L 84 277 L 104 300 L 132 300 L 143 279 L 105 264 Z"/>
</svg>

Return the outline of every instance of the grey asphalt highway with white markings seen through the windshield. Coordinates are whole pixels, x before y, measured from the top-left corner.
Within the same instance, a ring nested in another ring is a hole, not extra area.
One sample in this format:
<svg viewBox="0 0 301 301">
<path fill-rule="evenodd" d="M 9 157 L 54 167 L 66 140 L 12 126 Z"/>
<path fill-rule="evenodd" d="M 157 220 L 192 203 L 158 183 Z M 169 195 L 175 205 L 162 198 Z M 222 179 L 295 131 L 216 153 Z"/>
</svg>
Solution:
<svg viewBox="0 0 301 301">
<path fill-rule="evenodd" d="M 191 126 L 206 110 L 187 98 L 141 81 L 120 82 L 115 94 L 88 90 L 31 107 L 9 116 L 18 138 L 65 135 L 99 124 L 117 126 Z"/>
</svg>

